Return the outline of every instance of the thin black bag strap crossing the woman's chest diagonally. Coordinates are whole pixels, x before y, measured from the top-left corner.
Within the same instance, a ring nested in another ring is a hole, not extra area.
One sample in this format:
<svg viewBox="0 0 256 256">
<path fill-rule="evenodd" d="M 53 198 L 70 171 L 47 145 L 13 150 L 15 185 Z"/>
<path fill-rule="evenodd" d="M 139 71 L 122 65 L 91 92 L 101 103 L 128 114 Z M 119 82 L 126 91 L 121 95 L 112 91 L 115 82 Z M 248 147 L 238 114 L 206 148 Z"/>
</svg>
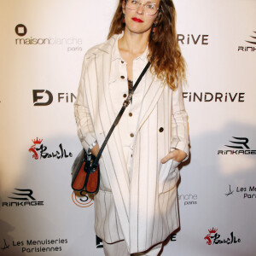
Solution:
<svg viewBox="0 0 256 256">
<path fill-rule="evenodd" d="M 138 77 L 136 83 L 134 84 L 134 86 L 132 87 L 129 95 L 127 96 L 127 98 L 125 99 L 125 102 L 123 103 L 123 107 L 120 109 L 119 114 L 117 115 L 116 119 L 113 121 L 113 125 L 111 126 L 110 130 L 108 131 L 108 135 L 105 138 L 104 142 L 102 143 L 102 147 L 100 148 L 99 153 L 96 155 L 96 159 L 94 161 L 94 165 L 98 164 L 98 161 L 100 159 L 100 157 L 102 156 L 102 152 L 104 150 L 104 148 L 106 147 L 107 143 L 108 143 L 108 139 L 111 137 L 111 134 L 115 128 L 116 125 L 118 125 L 119 120 L 121 119 L 123 113 L 125 112 L 125 108 L 127 108 L 130 104 L 131 101 L 131 97 L 134 94 L 134 91 L 137 89 L 137 85 L 140 83 L 140 81 L 143 79 L 144 74 L 147 72 L 148 67 L 150 66 L 150 62 L 148 61 L 147 65 L 144 67 L 143 72 L 140 74 L 140 76 Z"/>
</svg>

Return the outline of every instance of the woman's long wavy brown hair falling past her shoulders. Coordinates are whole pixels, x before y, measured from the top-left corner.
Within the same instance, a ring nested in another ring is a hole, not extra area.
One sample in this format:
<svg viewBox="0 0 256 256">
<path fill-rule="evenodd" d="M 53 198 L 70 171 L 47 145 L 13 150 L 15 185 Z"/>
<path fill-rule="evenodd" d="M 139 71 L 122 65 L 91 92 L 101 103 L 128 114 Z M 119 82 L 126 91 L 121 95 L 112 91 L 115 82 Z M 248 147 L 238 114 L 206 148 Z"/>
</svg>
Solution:
<svg viewBox="0 0 256 256">
<path fill-rule="evenodd" d="M 125 30 L 123 1 L 125 0 L 119 0 L 108 38 Z M 186 83 L 186 64 L 177 44 L 176 10 L 172 0 L 160 0 L 159 14 L 154 24 L 154 32 L 152 29 L 148 38 L 148 61 L 151 62 L 151 72 L 172 90 L 176 90 L 178 84 Z"/>
</svg>

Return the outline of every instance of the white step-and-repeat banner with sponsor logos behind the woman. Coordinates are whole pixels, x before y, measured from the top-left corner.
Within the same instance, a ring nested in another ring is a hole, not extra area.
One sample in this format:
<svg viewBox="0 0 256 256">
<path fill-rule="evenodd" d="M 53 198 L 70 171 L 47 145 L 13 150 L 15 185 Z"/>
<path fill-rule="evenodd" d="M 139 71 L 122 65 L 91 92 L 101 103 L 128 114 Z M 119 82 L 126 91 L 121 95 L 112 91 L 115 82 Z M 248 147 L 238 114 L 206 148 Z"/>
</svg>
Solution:
<svg viewBox="0 0 256 256">
<path fill-rule="evenodd" d="M 162 255 L 256 255 L 256 1 L 176 0 L 191 155 L 181 227 Z M 113 0 L 0 1 L 0 254 L 102 255 L 94 202 L 74 195 L 84 53 Z"/>
</svg>

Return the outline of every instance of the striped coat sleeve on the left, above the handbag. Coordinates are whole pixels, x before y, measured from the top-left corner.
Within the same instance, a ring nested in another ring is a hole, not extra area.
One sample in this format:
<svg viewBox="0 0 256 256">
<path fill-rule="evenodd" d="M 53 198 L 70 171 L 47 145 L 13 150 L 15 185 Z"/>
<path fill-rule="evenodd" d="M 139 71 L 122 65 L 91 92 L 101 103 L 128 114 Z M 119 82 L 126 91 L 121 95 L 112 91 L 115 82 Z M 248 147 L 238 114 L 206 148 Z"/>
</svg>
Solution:
<svg viewBox="0 0 256 256">
<path fill-rule="evenodd" d="M 87 62 L 86 55 L 82 67 L 81 78 L 79 82 L 79 90 L 76 102 L 74 103 L 74 115 L 78 126 L 78 135 L 80 142 L 86 152 L 92 143 L 96 141 L 96 135 L 91 120 L 90 111 L 87 103 L 87 95 L 85 91 Z"/>
</svg>

